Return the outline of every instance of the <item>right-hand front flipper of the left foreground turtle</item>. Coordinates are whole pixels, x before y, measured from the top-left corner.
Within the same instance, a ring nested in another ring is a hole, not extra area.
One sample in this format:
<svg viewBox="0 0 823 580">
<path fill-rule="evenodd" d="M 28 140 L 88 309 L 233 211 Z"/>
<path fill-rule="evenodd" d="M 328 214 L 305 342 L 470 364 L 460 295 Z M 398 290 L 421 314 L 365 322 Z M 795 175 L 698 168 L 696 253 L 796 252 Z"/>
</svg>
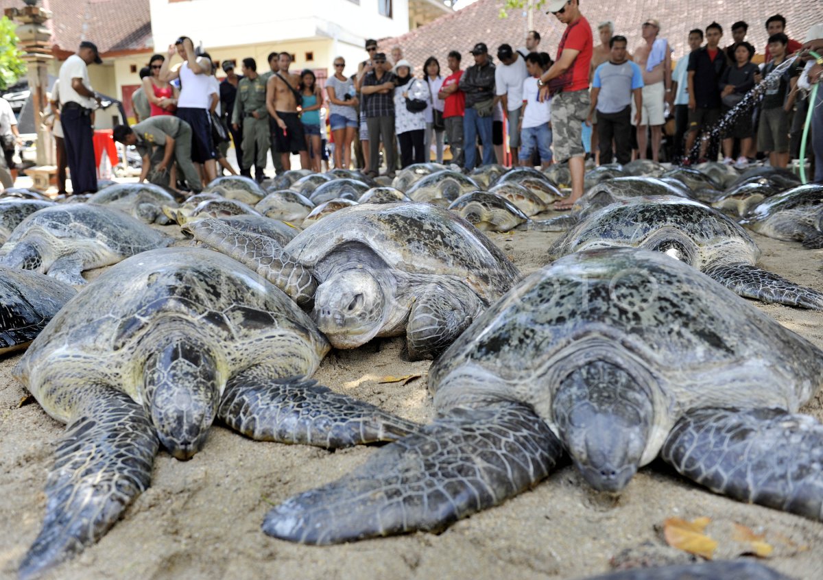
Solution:
<svg viewBox="0 0 823 580">
<path fill-rule="evenodd" d="M 420 425 L 306 378 L 258 378 L 246 373 L 226 384 L 218 416 L 258 441 L 343 448 L 395 441 Z"/>
</svg>

